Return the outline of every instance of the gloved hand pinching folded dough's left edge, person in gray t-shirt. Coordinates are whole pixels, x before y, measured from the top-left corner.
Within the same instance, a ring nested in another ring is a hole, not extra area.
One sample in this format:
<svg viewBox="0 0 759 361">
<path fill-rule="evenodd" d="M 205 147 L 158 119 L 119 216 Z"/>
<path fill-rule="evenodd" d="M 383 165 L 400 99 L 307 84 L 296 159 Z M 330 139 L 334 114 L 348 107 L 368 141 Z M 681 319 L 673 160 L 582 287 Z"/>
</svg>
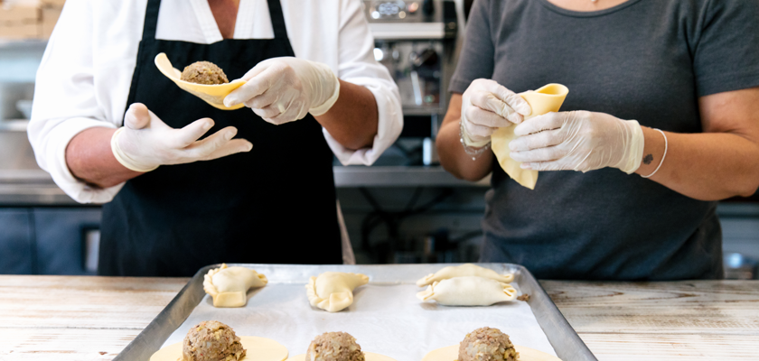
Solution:
<svg viewBox="0 0 759 361">
<path fill-rule="evenodd" d="M 464 144 L 483 147 L 496 129 L 520 124 L 532 109 L 513 91 L 494 80 L 476 79 L 461 99 L 461 128 Z"/>
</svg>

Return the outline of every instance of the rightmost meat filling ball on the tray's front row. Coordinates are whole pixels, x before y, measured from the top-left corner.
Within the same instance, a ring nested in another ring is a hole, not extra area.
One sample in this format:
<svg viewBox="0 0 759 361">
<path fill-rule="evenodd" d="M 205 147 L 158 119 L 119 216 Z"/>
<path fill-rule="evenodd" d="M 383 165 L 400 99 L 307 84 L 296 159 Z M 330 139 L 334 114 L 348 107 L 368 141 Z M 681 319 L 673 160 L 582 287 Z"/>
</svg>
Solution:
<svg viewBox="0 0 759 361">
<path fill-rule="evenodd" d="M 466 335 L 457 361 L 516 361 L 519 356 L 509 335 L 500 329 L 482 328 Z"/>
</svg>

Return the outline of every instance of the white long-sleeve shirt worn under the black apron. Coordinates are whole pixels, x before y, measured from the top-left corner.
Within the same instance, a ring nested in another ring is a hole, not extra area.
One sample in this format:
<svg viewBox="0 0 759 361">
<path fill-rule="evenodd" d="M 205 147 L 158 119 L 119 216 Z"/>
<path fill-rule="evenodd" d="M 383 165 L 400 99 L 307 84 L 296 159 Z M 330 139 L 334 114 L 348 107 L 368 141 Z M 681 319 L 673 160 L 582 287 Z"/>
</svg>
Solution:
<svg viewBox="0 0 759 361">
<path fill-rule="evenodd" d="M 403 127 L 398 87 L 374 60 L 374 40 L 359 0 L 280 0 L 295 56 L 329 65 L 340 79 L 369 88 L 379 109 L 371 148 L 352 151 L 323 130 L 342 164 L 370 165 Z M 40 167 L 72 199 L 105 203 L 123 184 L 88 186 L 71 174 L 66 147 L 95 126 L 123 124 L 147 0 L 69 0 L 37 71 L 29 140 Z M 156 38 L 213 43 L 221 33 L 207 0 L 164 0 Z M 235 39 L 273 39 L 266 0 L 241 0 Z"/>
</svg>

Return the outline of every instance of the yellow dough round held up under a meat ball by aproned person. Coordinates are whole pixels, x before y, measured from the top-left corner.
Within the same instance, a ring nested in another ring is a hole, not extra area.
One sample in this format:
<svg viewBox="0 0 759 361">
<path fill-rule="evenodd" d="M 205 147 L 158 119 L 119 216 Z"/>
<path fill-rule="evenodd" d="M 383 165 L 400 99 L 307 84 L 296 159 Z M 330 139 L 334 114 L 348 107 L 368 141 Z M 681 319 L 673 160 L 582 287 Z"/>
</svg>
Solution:
<svg viewBox="0 0 759 361">
<path fill-rule="evenodd" d="M 237 79 L 226 84 L 195 84 L 182 79 L 182 71 L 179 71 L 179 69 L 175 69 L 172 66 L 172 62 L 166 57 L 164 52 L 156 55 L 154 61 L 155 67 L 158 68 L 166 78 L 171 79 L 174 84 L 179 88 L 182 88 L 184 91 L 205 100 L 205 102 L 211 106 L 217 107 L 221 110 L 235 110 L 245 106 L 245 104 L 242 103 L 236 106 L 224 105 L 224 98 L 230 95 L 234 89 L 245 84 L 245 80 Z M 166 101 L 171 101 L 171 99 L 166 99 Z"/>
</svg>

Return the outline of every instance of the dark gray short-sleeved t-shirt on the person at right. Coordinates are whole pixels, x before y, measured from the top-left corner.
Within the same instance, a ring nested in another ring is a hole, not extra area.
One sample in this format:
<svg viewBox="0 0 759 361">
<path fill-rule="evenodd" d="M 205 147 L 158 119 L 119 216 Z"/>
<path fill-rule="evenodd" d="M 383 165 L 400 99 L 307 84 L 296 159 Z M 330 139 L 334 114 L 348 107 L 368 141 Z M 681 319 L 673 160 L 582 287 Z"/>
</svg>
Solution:
<svg viewBox="0 0 759 361">
<path fill-rule="evenodd" d="M 480 78 L 515 92 L 560 83 L 562 111 L 700 133 L 698 97 L 759 86 L 756 0 L 629 0 L 593 13 L 476 0 L 466 32 L 457 93 Z M 716 202 L 635 174 L 542 171 L 528 190 L 493 162 L 486 201 L 483 262 L 553 279 L 722 277 Z"/>
</svg>

